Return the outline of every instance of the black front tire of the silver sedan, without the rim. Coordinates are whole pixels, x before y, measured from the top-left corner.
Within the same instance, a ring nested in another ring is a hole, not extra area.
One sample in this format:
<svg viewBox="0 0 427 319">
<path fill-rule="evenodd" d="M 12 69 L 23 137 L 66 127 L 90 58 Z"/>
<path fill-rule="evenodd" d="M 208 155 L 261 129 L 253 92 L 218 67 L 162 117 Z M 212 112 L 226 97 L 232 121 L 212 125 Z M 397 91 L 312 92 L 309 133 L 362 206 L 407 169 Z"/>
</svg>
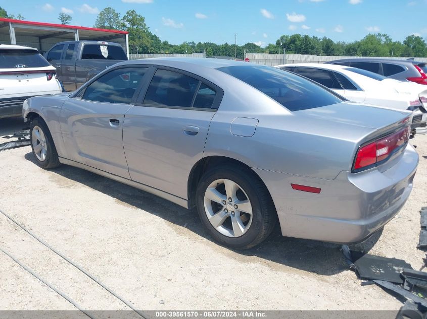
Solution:
<svg viewBox="0 0 427 319">
<path fill-rule="evenodd" d="M 44 134 L 46 140 L 46 157 L 44 160 L 40 160 L 37 158 L 34 152 L 34 143 L 33 143 L 33 129 L 38 126 L 42 133 Z M 55 168 L 61 165 L 58 158 L 58 153 L 54 144 L 54 140 L 52 139 L 51 132 L 49 131 L 48 125 L 44 122 L 41 117 L 36 117 L 31 121 L 30 125 L 30 139 L 31 139 L 31 149 L 33 151 L 33 155 L 35 161 L 38 166 L 44 169 Z"/>
</svg>

